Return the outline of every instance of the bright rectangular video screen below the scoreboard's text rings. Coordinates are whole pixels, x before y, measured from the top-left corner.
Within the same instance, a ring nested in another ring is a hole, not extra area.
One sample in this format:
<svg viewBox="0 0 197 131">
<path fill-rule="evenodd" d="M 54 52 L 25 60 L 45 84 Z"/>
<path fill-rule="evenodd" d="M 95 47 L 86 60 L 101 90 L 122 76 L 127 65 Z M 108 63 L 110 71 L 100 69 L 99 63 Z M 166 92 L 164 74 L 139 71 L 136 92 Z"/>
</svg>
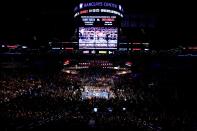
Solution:
<svg viewBox="0 0 197 131">
<path fill-rule="evenodd" d="M 79 49 L 117 49 L 117 27 L 79 27 Z"/>
</svg>

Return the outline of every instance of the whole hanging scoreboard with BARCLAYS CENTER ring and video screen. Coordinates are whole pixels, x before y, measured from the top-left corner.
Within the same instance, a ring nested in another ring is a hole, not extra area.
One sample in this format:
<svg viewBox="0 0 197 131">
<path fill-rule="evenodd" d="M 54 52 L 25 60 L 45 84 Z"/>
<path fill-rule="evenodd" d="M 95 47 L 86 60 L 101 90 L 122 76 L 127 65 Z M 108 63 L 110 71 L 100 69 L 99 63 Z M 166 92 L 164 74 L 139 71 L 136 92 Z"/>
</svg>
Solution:
<svg viewBox="0 0 197 131">
<path fill-rule="evenodd" d="M 116 50 L 123 8 L 112 2 L 83 2 L 74 8 L 81 50 Z"/>
</svg>

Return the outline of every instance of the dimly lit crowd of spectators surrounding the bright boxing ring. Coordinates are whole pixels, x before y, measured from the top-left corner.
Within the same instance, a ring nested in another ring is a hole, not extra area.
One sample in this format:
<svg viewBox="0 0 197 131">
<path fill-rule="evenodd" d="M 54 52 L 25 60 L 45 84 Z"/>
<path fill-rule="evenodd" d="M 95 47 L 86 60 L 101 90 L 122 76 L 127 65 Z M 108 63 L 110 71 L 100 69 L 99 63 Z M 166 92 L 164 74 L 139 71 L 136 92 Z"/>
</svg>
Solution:
<svg viewBox="0 0 197 131">
<path fill-rule="evenodd" d="M 46 74 L 2 71 L 0 120 L 3 124 L 0 129 L 121 127 L 150 131 L 193 130 L 195 114 L 187 110 L 168 110 L 163 97 L 159 96 L 159 81 L 154 77 L 147 78 L 144 72 L 138 73 L 141 76 L 135 72 L 117 75 L 100 68 L 85 69 L 75 75 L 62 71 Z M 90 77 L 90 80 L 112 77 L 111 91 L 115 96 L 82 99 L 83 77 Z M 170 92 L 164 93 L 167 96 Z"/>
</svg>

